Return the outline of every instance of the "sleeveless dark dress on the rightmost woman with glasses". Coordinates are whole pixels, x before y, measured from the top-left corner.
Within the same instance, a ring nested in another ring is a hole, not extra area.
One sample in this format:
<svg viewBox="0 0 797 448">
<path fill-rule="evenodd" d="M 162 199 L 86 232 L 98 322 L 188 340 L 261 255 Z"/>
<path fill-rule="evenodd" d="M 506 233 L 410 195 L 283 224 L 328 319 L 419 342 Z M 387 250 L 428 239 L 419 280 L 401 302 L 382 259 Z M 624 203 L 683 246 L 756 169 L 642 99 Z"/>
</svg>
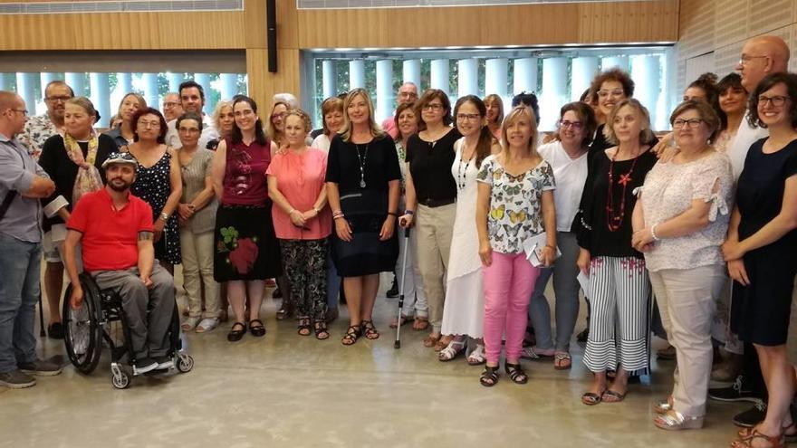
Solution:
<svg viewBox="0 0 797 448">
<path fill-rule="evenodd" d="M 736 205 L 742 215 L 739 241 L 758 232 L 781 213 L 786 179 L 797 174 L 797 140 L 783 149 L 763 153 L 756 141 L 747 152 L 739 176 Z M 797 230 L 744 254 L 748 286 L 734 281 L 731 329 L 751 344 L 786 343 L 792 310 L 792 287 L 797 273 Z"/>
</svg>

